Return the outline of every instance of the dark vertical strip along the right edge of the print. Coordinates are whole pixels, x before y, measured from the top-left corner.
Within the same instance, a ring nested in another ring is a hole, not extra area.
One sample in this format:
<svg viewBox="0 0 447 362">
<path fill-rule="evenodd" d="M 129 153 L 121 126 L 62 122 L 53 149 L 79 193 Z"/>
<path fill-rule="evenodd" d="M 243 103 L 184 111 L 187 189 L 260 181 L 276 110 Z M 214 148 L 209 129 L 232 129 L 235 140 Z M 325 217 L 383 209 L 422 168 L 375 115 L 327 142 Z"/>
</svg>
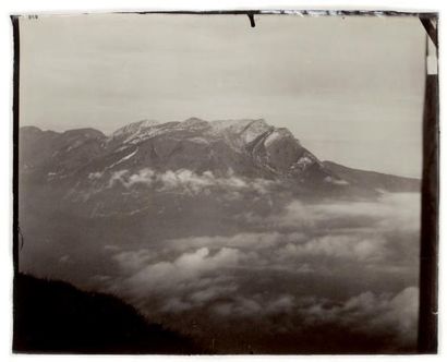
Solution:
<svg viewBox="0 0 447 362">
<path fill-rule="evenodd" d="M 438 14 L 420 14 L 422 26 L 436 47 Z M 436 64 L 437 67 L 437 64 Z M 420 304 L 418 351 L 438 349 L 438 242 L 439 242 L 439 80 L 426 69 L 423 112 L 423 171 L 421 205 Z"/>
</svg>

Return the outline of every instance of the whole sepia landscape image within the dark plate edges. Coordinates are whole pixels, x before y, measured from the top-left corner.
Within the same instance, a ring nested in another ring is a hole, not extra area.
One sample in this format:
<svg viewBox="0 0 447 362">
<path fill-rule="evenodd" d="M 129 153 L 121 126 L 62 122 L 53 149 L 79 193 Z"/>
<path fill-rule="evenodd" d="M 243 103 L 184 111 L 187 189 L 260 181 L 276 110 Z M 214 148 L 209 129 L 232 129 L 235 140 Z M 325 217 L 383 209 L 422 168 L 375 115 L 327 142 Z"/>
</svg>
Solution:
<svg viewBox="0 0 447 362">
<path fill-rule="evenodd" d="M 14 351 L 421 351 L 416 15 L 16 26 Z"/>
</svg>

